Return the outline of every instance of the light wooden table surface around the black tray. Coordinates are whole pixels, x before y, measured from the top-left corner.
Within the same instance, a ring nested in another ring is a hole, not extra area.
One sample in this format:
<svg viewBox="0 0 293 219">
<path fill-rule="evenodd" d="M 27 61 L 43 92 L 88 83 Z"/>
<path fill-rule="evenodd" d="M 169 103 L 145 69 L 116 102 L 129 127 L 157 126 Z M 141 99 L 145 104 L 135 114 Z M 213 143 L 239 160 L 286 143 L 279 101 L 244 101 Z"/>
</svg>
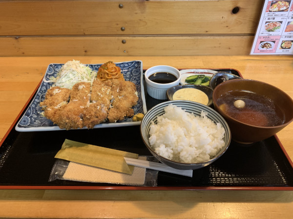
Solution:
<svg viewBox="0 0 293 219">
<path fill-rule="evenodd" d="M 48 64 L 142 60 L 176 68 L 233 68 L 293 97 L 293 56 L 0 57 L 0 139 Z M 293 159 L 293 124 L 277 135 Z M 0 218 L 292 218 L 293 191 L 0 190 Z"/>
</svg>

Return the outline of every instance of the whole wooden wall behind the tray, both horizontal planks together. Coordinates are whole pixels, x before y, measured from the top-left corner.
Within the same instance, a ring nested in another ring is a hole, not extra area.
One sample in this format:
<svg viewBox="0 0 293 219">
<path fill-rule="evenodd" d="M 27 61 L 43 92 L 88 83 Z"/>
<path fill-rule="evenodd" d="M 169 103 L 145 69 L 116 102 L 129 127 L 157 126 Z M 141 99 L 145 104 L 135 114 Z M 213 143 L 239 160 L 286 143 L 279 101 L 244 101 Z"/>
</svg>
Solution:
<svg viewBox="0 0 293 219">
<path fill-rule="evenodd" d="M 248 55 L 262 5 L 263 0 L 0 1 L 0 56 Z"/>
</svg>

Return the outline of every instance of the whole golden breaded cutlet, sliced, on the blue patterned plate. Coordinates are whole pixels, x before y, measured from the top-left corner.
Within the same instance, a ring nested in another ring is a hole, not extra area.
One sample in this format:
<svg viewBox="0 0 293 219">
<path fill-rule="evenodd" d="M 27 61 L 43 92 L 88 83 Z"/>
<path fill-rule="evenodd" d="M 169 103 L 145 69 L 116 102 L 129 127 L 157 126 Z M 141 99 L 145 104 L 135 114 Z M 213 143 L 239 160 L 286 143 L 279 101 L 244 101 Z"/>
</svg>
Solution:
<svg viewBox="0 0 293 219">
<path fill-rule="evenodd" d="M 61 95 L 63 92 L 64 95 Z M 71 91 L 63 91 L 58 87 L 49 89 L 42 107 L 45 117 L 60 128 L 68 130 L 84 126 L 94 128 L 107 119 L 113 123 L 131 117 L 134 114 L 132 107 L 137 101 L 136 86 L 132 82 L 95 79 L 92 86 L 89 82 L 80 82 Z"/>
</svg>

